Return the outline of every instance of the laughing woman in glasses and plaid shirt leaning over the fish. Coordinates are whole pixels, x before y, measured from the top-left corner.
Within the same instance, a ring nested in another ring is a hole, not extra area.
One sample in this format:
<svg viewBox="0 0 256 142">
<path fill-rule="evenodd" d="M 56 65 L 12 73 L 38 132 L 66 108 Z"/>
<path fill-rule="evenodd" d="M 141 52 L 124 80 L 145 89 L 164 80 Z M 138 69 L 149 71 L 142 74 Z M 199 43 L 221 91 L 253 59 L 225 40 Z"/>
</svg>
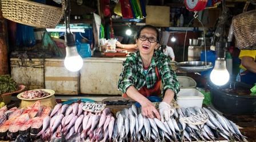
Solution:
<svg viewBox="0 0 256 142">
<path fill-rule="evenodd" d="M 176 74 L 171 70 L 170 58 L 158 49 L 159 32 L 154 26 L 143 26 L 136 36 L 139 51 L 131 54 L 123 62 L 123 70 L 118 81 L 118 90 L 124 97 L 137 101 L 142 106 L 142 115 L 148 118 L 169 120 L 170 102 L 179 91 Z M 162 93 L 160 90 L 163 84 Z M 159 112 L 146 97 L 163 94 Z"/>
</svg>

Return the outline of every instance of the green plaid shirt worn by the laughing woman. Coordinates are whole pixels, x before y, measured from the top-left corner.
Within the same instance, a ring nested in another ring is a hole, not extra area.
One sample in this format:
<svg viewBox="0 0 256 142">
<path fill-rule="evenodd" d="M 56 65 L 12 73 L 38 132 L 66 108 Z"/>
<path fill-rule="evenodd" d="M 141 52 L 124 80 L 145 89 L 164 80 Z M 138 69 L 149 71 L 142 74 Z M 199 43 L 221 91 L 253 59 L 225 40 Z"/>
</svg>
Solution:
<svg viewBox="0 0 256 142">
<path fill-rule="evenodd" d="M 119 76 L 118 90 L 126 93 L 129 86 L 133 85 L 137 90 L 143 86 L 151 89 L 155 82 L 157 82 L 157 74 L 155 66 L 159 70 L 162 80 L 162 95 L 165 94 L 166 89 L 174 91 L 175 95 L 179 92 L 179 82 L 175 72 L 171 69 L 170 58 L 159 50 L 154 52 L 151 64 L 147 69 L 147 74 L 143 73 L 143 64 L 139 51 L 131 54 L 123 61 L 123 70 Z"/>
</svg>

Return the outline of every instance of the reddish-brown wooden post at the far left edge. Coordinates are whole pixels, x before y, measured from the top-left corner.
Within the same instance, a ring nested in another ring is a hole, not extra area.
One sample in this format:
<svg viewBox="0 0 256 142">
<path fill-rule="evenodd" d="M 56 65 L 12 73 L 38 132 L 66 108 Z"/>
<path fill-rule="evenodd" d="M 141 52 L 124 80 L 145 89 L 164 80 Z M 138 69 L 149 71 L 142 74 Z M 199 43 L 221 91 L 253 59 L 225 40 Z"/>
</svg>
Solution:
<svg viewBox="0 0 256 142">
<path fill-rule="evenodd" d="M 1 3 L 0 3 L 1 7 Z M 0 75 L 8 74 L 8 51 L 7 51 L 7 33 L 5 26 L 5 18 L 3 18 L 2 11 L 0 10 Z"/>
</svg>

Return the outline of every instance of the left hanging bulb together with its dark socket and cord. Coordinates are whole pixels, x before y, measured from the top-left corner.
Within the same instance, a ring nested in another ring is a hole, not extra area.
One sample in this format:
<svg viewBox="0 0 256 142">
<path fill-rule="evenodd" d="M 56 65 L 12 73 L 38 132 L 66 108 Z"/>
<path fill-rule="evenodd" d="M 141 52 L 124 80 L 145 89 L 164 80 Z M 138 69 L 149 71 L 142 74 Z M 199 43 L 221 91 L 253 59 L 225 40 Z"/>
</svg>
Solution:
<svg viewBox="0 0 256 142">
<path fill-rule="evenodd" d="M 65 11 L 65 42 L 66 42 L 66 57 L 64 60 L 64 65 L 67 70 L 71 72 L 77 72 L 83 66 L 83 59 L 77 52 L 77 47 L 75 46 L 75 40 L 73 34 L 70 32 L 70 1 L 67 0 L 67 7 Z"/>
</svg>

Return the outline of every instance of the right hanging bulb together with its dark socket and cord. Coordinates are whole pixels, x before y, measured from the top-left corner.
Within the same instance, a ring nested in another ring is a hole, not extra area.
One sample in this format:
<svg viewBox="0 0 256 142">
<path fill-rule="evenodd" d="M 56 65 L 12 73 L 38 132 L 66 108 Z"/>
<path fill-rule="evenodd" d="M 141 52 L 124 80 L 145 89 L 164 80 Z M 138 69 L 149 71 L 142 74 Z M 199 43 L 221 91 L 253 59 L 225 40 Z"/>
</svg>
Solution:
<svg viewBox="0 0 256 142">
<path fill-rule="evenodd" d="M 211 82 L 218 86 L 225 85 L 229 82 L 229 72 L 226 68 L 225 51 L 223 47 L 225 47 L 225 42 L 222 41 L 221 37 L 216 43 L 217 59 L 215 60 L 214 68 L 210 74 Z"/>
</svg>

